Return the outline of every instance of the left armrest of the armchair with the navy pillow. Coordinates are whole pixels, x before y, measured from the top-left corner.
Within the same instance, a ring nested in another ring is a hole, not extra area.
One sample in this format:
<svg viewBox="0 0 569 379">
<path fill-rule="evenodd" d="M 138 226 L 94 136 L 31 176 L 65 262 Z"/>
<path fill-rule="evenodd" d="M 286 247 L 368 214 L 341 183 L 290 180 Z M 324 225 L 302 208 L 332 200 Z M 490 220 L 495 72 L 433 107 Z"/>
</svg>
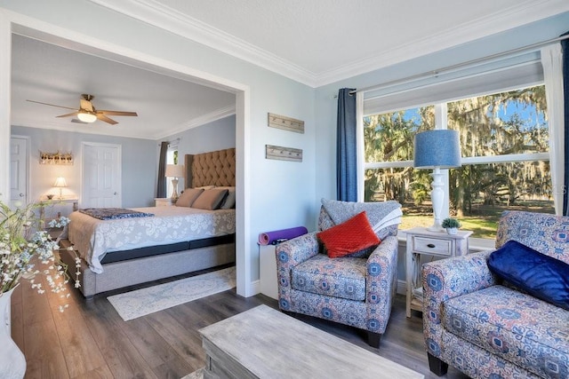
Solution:
<svg viewBox="0 0 569 379">
<path fill-rule="evenodd" d="M 486 265 L 493 250 L 453 257 L 422 266 L 423 335 L 427 351 L 440 358 L 443 326 L 441 316 L 446 300 L 497 284 L 498 278 Z"/>
</svg>

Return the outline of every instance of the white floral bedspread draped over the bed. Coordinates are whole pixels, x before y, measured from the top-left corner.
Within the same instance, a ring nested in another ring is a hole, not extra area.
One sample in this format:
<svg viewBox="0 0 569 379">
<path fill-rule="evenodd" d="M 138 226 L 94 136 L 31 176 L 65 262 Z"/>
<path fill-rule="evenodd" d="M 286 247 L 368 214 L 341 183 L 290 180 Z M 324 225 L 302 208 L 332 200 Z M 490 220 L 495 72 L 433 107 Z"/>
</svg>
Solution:
<svg viewBox="0 0 569 379">
<path fill-rule="evenodd" d="M 235 209 L 132 209 L 155 216 L 100 220 L 78 211 L 69 216 L 68 239 L 93 272 L 103 272 L 100 260 L 108 252 L 235 233 Z"/>
</svg>

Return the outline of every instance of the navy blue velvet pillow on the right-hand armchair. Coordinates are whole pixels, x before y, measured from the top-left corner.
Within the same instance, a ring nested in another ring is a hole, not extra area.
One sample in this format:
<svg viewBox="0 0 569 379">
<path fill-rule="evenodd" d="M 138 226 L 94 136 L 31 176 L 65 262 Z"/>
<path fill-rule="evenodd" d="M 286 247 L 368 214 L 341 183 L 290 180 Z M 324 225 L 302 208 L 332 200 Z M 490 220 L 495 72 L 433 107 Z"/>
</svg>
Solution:
<svg viewBox="0 0 569 379">
<path fill-rule="evenodd" d="M 569 265 L 508 241 L 488 258 L 490 271 L 548 303 L 569 311 Z"/>
</svg>

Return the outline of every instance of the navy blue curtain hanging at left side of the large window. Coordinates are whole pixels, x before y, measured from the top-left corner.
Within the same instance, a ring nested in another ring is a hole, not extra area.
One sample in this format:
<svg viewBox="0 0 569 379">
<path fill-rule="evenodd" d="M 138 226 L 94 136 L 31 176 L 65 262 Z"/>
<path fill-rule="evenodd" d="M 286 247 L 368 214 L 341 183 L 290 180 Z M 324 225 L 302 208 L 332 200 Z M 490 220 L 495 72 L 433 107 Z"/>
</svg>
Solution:
<svg viewBox="0 0 569 379">
<path fill-rule="evenodd" d="M 336 146 L 336 196 L 341 201 L 357 201 L 356 91 L 342 88 L 338 93 L 338 138 Z"/>
</svg>

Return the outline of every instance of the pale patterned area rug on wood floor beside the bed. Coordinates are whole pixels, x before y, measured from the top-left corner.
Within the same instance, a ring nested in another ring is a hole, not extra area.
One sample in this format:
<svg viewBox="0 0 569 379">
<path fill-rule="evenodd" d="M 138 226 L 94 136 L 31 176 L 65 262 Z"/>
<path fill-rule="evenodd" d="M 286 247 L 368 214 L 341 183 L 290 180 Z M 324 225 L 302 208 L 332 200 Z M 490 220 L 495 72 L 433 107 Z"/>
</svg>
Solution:
<svg viewBox="0 0 569 379">
<path fill-rule="evenodd" d="M 235 286 L 234 266 L 107 298 L 123 320 L 128 321 L 217 294 Z"/>
</svg>

